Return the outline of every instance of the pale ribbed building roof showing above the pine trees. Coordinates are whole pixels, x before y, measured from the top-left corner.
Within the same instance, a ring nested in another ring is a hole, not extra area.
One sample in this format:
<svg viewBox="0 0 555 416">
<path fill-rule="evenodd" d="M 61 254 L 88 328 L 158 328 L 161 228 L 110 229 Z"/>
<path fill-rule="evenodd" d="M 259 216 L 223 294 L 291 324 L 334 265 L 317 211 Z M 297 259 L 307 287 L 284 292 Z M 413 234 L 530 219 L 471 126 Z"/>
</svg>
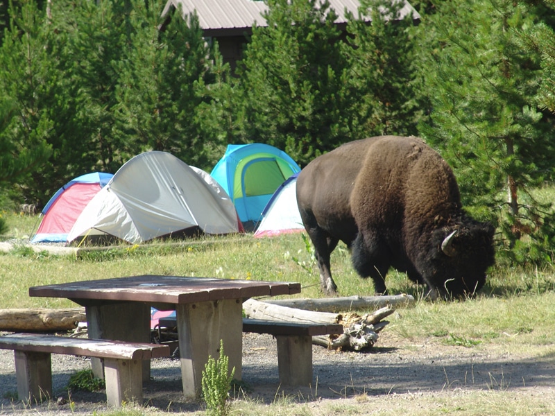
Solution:
<svg viewBox="0 0 555 416">
<path fill-rule="evenodd" d="M 407 16 L 410 12 L 415 18 L 419 18 L 418 12 L 405 0 L 401 10 L 401 16 Z M 357 16 L 359 8 L 358 0 L 330 0 L 330 8 L 334 9 L 338 18 L 337 24 L 345 24 L 345 9 Z M 266 3 L 261 0 L 168 0 L 162 15 L 173 7 L 182 7 L 183 14 L 190 15 L 196 10 L 200 28 L 205 32 L 237 32 L 251 28 L 255 23 L 257 26 L 266 26 L 266 20 L 262 16 L 268 10 Z"/>
</svg>

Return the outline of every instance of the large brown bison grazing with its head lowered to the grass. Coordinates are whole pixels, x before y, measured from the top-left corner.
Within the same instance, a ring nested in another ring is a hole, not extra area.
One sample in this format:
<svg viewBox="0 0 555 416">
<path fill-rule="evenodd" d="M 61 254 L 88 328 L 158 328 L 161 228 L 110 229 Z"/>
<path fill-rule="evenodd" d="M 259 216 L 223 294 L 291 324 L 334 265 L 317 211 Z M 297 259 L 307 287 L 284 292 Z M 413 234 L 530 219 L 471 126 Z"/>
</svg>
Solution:
<svg viewBox="0 0 555 416">
<path fill-rule="evenodd" d="M 316 157 L 298 175 L 297 202 L 327 295 L 340 240 L 380 294 L 393 267 L 432 299 L 472 296 L 494 263 L 494 227 L 463 211 L 452 169 L 418 137 L 370 137 Z"/>
</svg>

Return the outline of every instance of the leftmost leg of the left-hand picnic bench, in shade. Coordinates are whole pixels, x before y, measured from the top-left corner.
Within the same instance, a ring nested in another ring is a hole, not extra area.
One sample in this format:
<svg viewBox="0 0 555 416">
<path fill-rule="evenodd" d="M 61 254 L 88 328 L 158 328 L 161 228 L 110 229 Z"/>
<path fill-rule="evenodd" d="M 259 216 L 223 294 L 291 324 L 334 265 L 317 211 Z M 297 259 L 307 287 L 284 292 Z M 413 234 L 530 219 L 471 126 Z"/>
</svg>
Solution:
<svg viewBox="0 0 555 416">
<path fill-rule="evenodd" d="M 52 398 L 52 366 L 47 352 L 15 351 L 17 396 L 22 401 Z"/>
</svg>

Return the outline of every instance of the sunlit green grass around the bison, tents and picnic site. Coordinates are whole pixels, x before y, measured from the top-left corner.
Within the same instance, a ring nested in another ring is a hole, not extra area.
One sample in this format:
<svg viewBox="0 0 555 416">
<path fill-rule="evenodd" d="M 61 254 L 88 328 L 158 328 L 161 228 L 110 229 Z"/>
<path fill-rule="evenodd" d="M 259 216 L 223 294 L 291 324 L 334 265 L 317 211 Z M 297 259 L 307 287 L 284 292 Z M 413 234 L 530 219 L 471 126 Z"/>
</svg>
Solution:
<svg viewBox="0 0 555 416">
<path fill-rule="evenodd" d="M 4 214 L 6 215 L 6 214 Z M 10 235 L 4 239 L 25 239 L 37 225 L 34 216 L 6 215 Z M 340 295 L 372 295 L 370 280 L 352 270 L 348 250 L 340 246 L 332 254 L 332 272 Z M 414 344 L 423 340 L 465 349 L 496 349 L 506 354 L 534 357 L 552 356 L 555 345 L 555 273 L 552 266 L 540 269 L 493 268 L 486 286 L 465 302 L 425 302 L 424 289 L 403 273 L 390 271 L 386 282 L 391 293 L 408 293 L 418 300 L 388 317 L 388 333 Z M 109 250 L 84 252 L 75 256 L 54 256 L 34 252 L 23 245 L 0 254 L 2 308 L 75 307 L 69 300 L 28 296 L 28 288 L 80 279 L 101 279 L 126 275 L 184 275 L 299 281 L 300 297 L 321 297 L 318 272 L 301 234 L 273 239 L 244 236 L 205 237 Z M 365 311 L 360 311 L 364 313 Z M 550 355 L 551 354 L 551 355 Z M 492 380 L 490 391 L 446 389 L 414 395 L 359 395 L 348 404 L 276 397 L 271 406 L 255 400 L 234 401 L 230 414 L 236 415 L 553 415 L 551 397 L 531 395 L 529 390 L 506 392 Z M 502 382 L 501 382 L 502 383 Z M 114 416 L 162 415 L 156 408 L 123 408 L 103 413 Z M 200 412 L 193 414 L 202 414 Z"/>
</svg>

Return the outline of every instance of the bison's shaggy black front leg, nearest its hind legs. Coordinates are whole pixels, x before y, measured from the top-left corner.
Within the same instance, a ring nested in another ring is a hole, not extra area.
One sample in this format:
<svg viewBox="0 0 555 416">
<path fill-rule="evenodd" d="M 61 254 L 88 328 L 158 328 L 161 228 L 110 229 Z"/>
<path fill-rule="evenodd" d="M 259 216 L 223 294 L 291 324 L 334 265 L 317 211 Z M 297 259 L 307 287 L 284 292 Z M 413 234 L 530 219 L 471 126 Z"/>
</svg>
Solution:
<svg viewBox="0 0 555 416">
<path fill-rule="evenodd" d="M 372 277 L 376 293 L 387 294 L 385 277 L 389 270 L 389 254 L 375 238 L 365 239 L 361 232 L 352 243 L 352 266 L 361 277 Z"/>
</svg>

